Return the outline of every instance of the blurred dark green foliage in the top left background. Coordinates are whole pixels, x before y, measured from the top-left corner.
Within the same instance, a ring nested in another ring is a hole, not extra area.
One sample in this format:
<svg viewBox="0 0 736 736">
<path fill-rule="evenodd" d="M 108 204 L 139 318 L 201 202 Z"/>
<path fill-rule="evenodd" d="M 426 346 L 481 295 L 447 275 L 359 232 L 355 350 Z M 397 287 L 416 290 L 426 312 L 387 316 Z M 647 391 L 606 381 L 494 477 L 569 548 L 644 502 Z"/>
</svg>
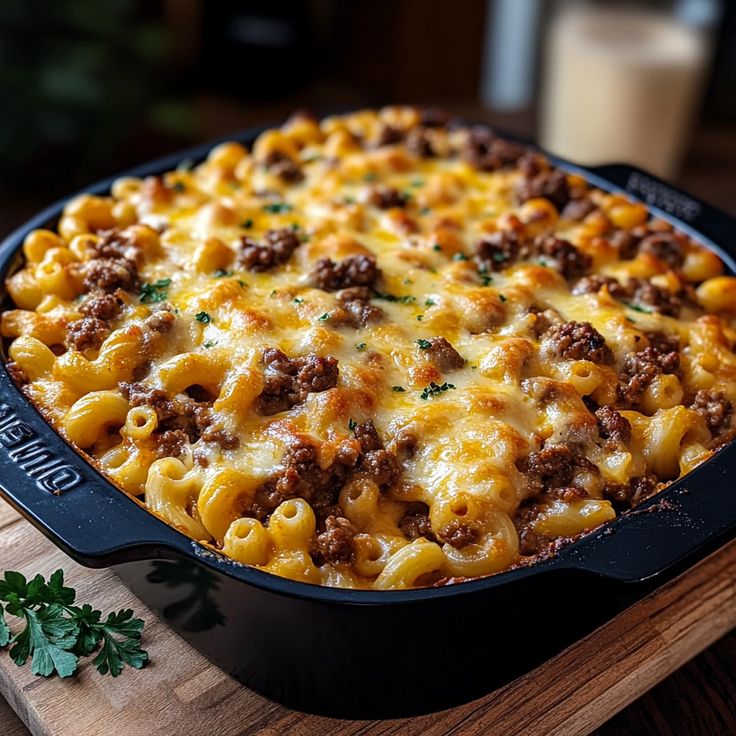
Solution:
<svg viewBox="0 0 736 736">
<path fill-rule="evenodd" d="M 16 182 L 83 174 L 124 140 L 155 95 L 167 45 L 143 10 L 138 0 L 0 0 L 0 170 Z"/>
</svg>

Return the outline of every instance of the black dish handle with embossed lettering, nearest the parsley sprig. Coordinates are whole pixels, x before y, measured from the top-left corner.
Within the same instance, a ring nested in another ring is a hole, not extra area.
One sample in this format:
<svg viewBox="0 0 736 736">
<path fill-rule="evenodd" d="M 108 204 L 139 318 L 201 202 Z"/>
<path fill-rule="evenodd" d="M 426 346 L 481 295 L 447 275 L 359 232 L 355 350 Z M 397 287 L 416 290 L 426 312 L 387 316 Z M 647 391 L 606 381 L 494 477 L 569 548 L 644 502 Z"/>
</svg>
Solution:
<svg viewBox="0 0 736 736">
<path fill-rule="evenodd" d="M 0 498 L 88 567 L 172 556 L 190 540 L 105 480 L 0 368 Z"/>
</svg>

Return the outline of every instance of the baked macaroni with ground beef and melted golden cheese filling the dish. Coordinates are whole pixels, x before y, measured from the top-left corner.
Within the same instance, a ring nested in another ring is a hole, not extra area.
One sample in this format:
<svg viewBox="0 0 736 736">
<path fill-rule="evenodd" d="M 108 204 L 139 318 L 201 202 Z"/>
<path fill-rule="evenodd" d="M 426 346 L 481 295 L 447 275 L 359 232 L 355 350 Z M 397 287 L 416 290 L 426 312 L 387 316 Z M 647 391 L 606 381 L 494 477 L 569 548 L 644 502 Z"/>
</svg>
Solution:
<svg viewBox="0 0 736 736">
<path fill-rule="evenodd" d="M 293 579 L 495 573 L 730 439 L 720 259 L 413 108 L 120 179 L 24 254 L 2 333 L 28 397 L 161 518 Z"/>
</svg>

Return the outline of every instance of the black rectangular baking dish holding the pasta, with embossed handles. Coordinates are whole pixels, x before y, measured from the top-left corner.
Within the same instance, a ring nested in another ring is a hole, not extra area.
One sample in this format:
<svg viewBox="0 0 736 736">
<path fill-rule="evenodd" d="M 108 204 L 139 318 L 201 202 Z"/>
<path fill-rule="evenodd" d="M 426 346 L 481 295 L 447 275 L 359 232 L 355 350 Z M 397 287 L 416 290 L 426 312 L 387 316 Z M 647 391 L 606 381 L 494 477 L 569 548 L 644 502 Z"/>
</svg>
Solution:
<svg viewBox="0 0 736 736">
<path fill-rule="evenodd" d="M 235 139 L 250 143 L 258 132 Z M 125 175 L 201 160 L 217 142 Z M 629 166 L 582 169 L 550 158 L 602 189 L 645 201 L 736 270 L 736 220 Z M 112 181 L 86 191 L 107 193 Z M 62 207 L 49 207 L 3 242 L 0 276 L 20 264 L 25 236 L 53 225 Z M 0 369 L 0 495 L 78 562 L 113 567 L 249 687 L 332 716 L 436 711 L 528 672 L 730 540 L 734 467 L 732 443 L 633 512 L 533 566 L 444 588 L 326 588 L 244 567 L 157 519 L 68 446 Z"/>
</svg>

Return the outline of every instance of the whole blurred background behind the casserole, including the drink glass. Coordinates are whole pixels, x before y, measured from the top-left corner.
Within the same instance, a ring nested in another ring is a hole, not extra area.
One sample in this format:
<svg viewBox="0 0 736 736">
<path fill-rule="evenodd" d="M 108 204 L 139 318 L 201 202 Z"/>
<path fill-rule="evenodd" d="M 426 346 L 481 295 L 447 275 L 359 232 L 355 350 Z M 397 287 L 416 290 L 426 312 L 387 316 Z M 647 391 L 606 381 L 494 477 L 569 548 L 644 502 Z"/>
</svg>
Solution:
<svg viewBox="0 0 736 736">
<path fill-rule="evenodd" d="M 444 106 L 736 214 L 733 0 L 2 0 L 0 233 L 296 108 Z"/>
</svg>

